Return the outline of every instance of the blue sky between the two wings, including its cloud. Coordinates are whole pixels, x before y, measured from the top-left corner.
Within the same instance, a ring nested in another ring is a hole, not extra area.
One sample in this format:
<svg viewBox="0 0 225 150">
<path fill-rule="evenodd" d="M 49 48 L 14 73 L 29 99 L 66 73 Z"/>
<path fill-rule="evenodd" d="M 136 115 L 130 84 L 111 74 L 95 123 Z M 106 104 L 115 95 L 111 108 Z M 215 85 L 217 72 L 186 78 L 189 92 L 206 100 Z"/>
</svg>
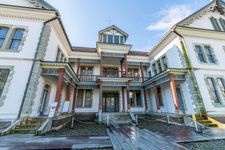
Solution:
<svg viewBox="0 0 225 150">
<path fill-rule="evenodd" d="M 116 25 L 132 50 L 148 51 L 176 22 L 210 0 L 46 0 L 60 11 L 73 46 L 95 47 L 98 31 Z"/>
</svg>

